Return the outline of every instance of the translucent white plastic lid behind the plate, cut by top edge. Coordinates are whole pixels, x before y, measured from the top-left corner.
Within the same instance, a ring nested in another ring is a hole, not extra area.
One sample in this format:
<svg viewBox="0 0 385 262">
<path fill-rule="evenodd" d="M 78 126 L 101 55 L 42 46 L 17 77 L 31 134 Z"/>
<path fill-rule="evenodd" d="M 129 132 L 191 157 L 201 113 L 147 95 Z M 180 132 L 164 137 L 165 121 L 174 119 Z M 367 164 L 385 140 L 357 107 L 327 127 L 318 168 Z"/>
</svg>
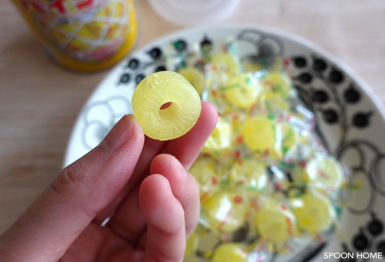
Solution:
<svg viewBox="0 0 385 262">
<path fill-rule="evenodd" d="M 149 0 L 162 18 L 179 25 L 209 22 L 228 15 L 239 0 Z"/>
</svg>

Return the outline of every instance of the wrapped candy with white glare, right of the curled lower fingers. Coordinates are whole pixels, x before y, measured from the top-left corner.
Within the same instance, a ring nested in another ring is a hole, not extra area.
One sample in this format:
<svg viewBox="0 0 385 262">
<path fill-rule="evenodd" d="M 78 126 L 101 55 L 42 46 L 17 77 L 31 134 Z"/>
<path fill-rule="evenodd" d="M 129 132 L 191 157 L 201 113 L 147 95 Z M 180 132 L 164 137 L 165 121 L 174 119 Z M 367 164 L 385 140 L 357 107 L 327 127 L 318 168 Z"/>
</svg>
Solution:
<svg viewBox="0 0 385 262">
<path fill-rule="evenodd" d="M 232 232 L 244 224 L 248 206 L 237 192 L 218 191 L 209 195 L 201 206 L 204 217 L 214 229 Z"/>
</svg>

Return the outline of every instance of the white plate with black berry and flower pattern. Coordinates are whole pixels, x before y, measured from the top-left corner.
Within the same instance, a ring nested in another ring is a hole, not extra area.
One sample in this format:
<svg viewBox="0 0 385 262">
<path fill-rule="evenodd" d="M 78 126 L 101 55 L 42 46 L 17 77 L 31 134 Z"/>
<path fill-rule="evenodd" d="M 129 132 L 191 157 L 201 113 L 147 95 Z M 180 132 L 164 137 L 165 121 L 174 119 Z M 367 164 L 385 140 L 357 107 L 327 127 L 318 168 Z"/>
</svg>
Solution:
<svg viewBox="0 0 385 262">
<path fill-rule="evenodd" d="M 283 56 L 303 100 L 316 113 L 327 148 L 352 167 L 353 176 L 362 182 L 360 190 L 347 200 L 340 233 L 325 244 L 308 241 L 297 247 L 295 253 L 274 255 L 271 260 L 338 260 L 325 259 L 325 252 L 354 252 L 355 258 L 357 252 L 383 251 L 385 255 L 382 103 L 351 68 L 313 43 L 278 30 L 243 26 L 196 28 L 164 36 L 133 53 L 111 71 L 84 105 L 72 130 L 63 165 L 94 148 L 124 114 L 132 113 L 134 88 L 144 76 L 164 70 L 162 54 L 176 52 L 176 48 L 191 51 L 202 41 L 210 41 L 214 50 L 219 51 L 229 35 L 235 36 L 242 58 L 264 57 L 268 61 L 277 54 Z"/>
</svg>

